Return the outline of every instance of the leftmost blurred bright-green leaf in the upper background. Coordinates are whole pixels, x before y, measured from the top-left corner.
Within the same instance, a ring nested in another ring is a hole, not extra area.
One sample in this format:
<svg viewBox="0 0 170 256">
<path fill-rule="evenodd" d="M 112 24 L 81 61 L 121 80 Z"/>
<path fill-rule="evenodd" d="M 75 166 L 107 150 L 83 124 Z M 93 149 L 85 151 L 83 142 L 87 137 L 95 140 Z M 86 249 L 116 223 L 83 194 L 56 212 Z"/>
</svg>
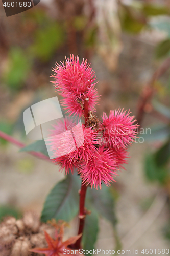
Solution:
<svg viewBox="0 0 170 256">
<path fill-rule="evenodd" d="M 31 63 L 25 51 L 15 47 L 9 53 L 9 68 L 4 74 L 4 81 L 13 89 L 19 89 L 26 80 Z"/>
</svg>

